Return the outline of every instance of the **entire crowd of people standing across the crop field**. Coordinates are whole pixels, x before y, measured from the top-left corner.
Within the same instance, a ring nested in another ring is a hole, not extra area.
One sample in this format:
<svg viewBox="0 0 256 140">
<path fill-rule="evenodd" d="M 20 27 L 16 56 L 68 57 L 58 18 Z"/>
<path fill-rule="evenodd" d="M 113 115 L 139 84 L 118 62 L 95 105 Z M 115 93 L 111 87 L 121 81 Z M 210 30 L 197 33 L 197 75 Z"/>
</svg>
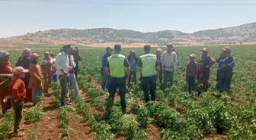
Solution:
<svg viewBox="0 0 256 140">
<path fill-rule="evenodd" d="M 114 51 L 114 52 L 113 52 Z M 114 50 L 106 48 L 106 53 L 102 56 L 101 76 L 102 90 L 109 92 L 107 113 L 114 103 L 114 95 L 117 88 L 120 94 L 120 101 L 123 114 L 126 113 L 126 85 L 130 88 L 130 83 L 136 84 L 137 71 L 142 82 L 145 101 L 155 101 L 156 83 L 162 83 L 163 89 L 172 86 L 174 82 L 175 67 L 178 66 L 178 55 L 174 51 L 173 45 L 167 45 L 167 51 L 162 52 L 157 48 L 155 54 L 151 53 L 150 45 L 144 46 L 144 54 L 136 56 L 136 51 L 131 50 L 126 58 L 122 52 L 121 45 L 114 45 Z M 72 86 L 76 95 L 80 95 L 78 90 L 78 61 L 82 61 L 78 48 L 71 45 L 63 45 L 60 53 L 56 55 L 49 51 L 44 51 L 44 58 L 40 65 L 39 55 L 29 48 L 22 51 L 18 58 L 16 68 L 11 67 L 9 61 L 10 53 L 0 51 L 0 100 L 2 113 L 14 109 L 14 134 L 21 129 L 21 113 L 24 101 L 37 103 L 38 98 L 48 94 L 51 82 L 59 79 L 61 86 L 60 103 L 62 106 L 70 105 L 69 87 Z M 202 56 L 196 62 L 196 55 L 189 55 L 189 63 L 186 68 L 187 90 L 195 90 L 195 81 L 201 83 L 203 92 L 209 88 L 210 67 L 219 63 L 217 69 L 217 85 L 219 92 L 227 91 L 231 94 L 232 71 L 235 66 L 229 47 L 222 48 L 222 53 L 216 61 L 209 55 L 209 49 L 202 49 Z M 43 81 L 43 82 L 42 82 Z M 149 97 L 150 95 L 150 97 Z"/>
</svg>

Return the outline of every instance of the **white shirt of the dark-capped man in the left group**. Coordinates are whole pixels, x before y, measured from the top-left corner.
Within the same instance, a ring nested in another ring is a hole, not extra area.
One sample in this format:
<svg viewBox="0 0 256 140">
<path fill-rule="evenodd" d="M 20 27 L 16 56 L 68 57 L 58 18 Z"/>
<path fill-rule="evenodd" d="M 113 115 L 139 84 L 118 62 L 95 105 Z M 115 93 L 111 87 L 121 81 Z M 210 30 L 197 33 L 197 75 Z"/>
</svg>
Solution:
<svg viewBox="0 0 256 140">
<path fill-rule="evenodd" d="M 69 75 L 69 54 L 66 54 L 64 51 L 57 54 L 56 61 L 55 61 L 55 67 L 57 69 L 57 75 L 64 75 L 62 71 L 65 70 Z"/>
</svg>

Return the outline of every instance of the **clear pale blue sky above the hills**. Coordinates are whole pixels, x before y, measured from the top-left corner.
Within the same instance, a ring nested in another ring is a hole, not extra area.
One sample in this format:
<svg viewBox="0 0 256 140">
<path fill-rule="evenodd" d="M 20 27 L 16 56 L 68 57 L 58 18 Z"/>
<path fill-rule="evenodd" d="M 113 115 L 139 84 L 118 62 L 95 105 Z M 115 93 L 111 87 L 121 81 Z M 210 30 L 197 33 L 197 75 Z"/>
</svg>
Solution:
<svg viewBox="0 0 256 140">
<path fill-rule="evenodd" d="M 255 0 L 0 0 L 0 37 L 58 28 L 198 30 L 256 21 Z"/>
</svg>

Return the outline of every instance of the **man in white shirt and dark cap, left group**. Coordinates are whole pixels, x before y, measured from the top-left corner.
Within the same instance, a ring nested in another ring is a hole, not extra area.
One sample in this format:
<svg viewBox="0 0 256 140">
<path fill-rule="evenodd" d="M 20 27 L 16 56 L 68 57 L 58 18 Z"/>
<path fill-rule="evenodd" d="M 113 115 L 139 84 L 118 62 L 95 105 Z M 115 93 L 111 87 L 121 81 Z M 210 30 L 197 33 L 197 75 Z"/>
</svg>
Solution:
<svg viewBox="0 0 256 140">
<path fill-rule="evenodd" d="M 69 53 L 71 45 L 63 45 L 61 53 L 57 54 L 55 67 L 61 86 L 60 103 L 62 106 L 71 105 L 69 103 L 69 70 L 72 67 L 69 65 Z"/>
</svg>

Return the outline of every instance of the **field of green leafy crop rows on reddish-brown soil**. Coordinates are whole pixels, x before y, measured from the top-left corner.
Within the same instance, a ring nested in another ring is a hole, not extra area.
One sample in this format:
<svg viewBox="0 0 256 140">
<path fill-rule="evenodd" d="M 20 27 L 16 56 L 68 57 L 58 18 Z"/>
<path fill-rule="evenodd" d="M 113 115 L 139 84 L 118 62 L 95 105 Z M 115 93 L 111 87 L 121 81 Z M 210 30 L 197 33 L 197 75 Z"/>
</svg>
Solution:
<svg viewBox="0 0 256 140">
<path fill-rule="evenodd" d="M 217 58 L 222 47 L 210 47 L 210 55 Z M 211 70 L 210 90 L 200 100 L 189 94 L 185 81 L 188 54 L 200 56 L 201 47 L 176 48 L 179 66 L 175 71 L 174 86 L 161 91 L 158 85 L 157 101 L 145 103 L 138 85 L 126 93 L 129 114 L 120 110 L 120 98 L 115 97 L 110 117 L 104 116 L 107 96 L 101 92 L 101 55 L 104 48 L 80 48 L 82 63 L 78 86 L 81 97 L 72 96 L 72 107 L 59 106 L 59 82 L 53 84 L 51 95 L 32 107 L 25 104 L 22 124 L 27 129 L 23 138 L 14 139 L 256 139 L 256 46 L 232 46 L 235 68 L 232 96 L 216 96 L 216 69 Z M 152 48 L 155 53 L 155 48 Z M 142 48 L 135 48 L 138 55 Z M 165 50 L 165 48 L 162 48 Z M 38 51 L 42 56 L 44 50 Z M 54 49 L 53 51 L 58 51 Z M 124 48 L 127 56 L 130 48 Z M 11 52 L 11 63 L 19 51 Z M 71 92 L 72 93 L 72 92 Z M 0 139 L 11 139 L 13 111 L 0 118 Z"/>
</svg>

